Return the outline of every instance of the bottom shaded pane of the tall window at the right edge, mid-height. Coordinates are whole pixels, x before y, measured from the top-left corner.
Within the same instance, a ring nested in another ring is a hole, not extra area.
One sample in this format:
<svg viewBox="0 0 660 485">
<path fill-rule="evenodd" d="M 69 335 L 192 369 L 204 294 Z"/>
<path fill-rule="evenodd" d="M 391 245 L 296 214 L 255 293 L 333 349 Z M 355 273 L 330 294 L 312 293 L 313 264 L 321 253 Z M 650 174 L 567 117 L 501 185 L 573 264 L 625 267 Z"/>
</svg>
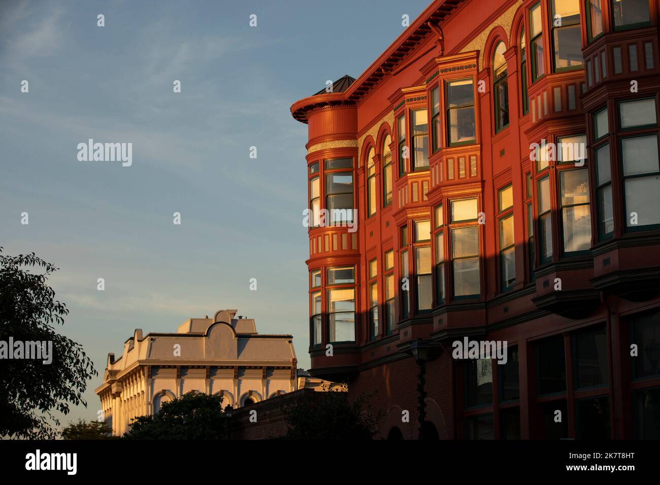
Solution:
<svg viewBox="0 0 660 485">
<path fill-rule="evenodd" d="M 660 177 L 636 177 L 624 180 L 626 226 L 660 224 Z M 637 214 L 637 224 L 632 212 Z"/>
</svg>

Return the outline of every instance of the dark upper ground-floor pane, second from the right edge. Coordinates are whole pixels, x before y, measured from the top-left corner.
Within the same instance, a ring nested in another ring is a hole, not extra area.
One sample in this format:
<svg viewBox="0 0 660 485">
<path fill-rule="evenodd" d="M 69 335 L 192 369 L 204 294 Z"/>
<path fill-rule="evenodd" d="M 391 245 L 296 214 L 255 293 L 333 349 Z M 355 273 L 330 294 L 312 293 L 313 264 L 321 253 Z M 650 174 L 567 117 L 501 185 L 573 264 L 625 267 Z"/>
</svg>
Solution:
<svg viewBox="0 0 660 485">
<path fill-rule="evenodd" d="M 607 332 L 605 325 L 579 331 L 575 334 L 576 389 L 607 385 Z"/>
</svg>

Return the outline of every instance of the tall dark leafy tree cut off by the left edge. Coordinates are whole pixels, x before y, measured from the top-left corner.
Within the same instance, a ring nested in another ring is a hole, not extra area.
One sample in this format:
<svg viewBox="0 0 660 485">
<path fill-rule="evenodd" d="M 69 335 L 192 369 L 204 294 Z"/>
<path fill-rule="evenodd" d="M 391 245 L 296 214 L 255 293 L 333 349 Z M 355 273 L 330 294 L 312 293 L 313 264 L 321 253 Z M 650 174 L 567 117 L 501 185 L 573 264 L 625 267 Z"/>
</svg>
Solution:
<svg viewBox="0 0 660 485">
<path fill-rule="evenodd" d="M 40 273 L 30 272 L 35 267 Z M 0 358 L 0 436 L 53 439 L 59 426 L 53 411 L 68 414 L 70 404 L 87 405 L 82 393 L 97 372 L 80 344 L 55 332 L 69 313 L 46 284 L 55 271 L 34 253 L 10 257 L 0 247 L 0 352 L 17 356 L 16 348 L 36 342 L 32 350 L 51 348 L 52 359 Z"/>
</svg>

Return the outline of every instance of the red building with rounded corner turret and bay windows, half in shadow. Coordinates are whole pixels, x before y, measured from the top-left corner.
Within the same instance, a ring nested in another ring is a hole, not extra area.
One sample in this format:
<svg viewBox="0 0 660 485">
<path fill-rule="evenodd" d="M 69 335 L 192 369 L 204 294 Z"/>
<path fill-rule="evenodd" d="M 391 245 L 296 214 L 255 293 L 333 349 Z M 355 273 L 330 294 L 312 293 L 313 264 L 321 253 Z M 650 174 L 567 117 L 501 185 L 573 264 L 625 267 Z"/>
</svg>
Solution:
<svg viewBox="0 0 660 485">
<path fill-rule="evenodd" d="M 437 0 L 292 106 L 310 372 L 369 395 L 382 437 L 418 434 L 420 339 L 425 437 L 660 437 L 659 11 Z M 506 364 L 453 358 L 465 337 Z"/>
</svg>

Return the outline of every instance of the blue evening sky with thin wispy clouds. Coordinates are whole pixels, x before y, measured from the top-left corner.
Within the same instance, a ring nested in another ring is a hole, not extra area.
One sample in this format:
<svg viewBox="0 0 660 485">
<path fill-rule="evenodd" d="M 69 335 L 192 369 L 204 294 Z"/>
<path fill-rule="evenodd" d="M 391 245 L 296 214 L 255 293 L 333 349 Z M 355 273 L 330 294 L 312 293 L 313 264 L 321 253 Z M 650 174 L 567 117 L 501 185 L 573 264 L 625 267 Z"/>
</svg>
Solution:
<svg viewBox="0 0 660 485">
<path fill-rule="evenodd" d="M 61 332 L 100 374 L 88 408 L 64 422 L 96 417 L 106 355 L 121 354 L 133 329 L 176 331 L 220 308 L 255 318 L 260 333 L 291 333 L 309 367 L 307 127 L 289 107 L 327 79 L 358 77 L 401 33 L 401 16 L 426 5 L 0 5 L 0 245 L 59 267 L 50 282 L 71 311 Z M 80 162 L 90 138 L 132 143 L 132 166 Z"/>
</svg>

